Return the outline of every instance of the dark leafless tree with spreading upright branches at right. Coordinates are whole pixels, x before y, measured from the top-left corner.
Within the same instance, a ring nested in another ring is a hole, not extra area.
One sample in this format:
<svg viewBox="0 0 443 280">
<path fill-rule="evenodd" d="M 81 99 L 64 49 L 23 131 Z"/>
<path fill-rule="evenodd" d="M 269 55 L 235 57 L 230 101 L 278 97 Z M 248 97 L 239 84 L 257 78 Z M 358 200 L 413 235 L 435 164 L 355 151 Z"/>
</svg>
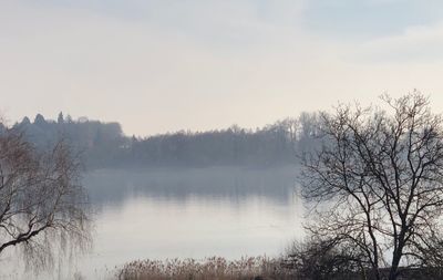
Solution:
<svg viewBox="0 0 443 280">
<path fill-rule="evenodd" d="M 385 110 L 322 113 L 323 144 L 305 155 L 301 178 L 317 205 L 311 234 L 358 248 L 372 278 L 394 280 L 443 263 L 443 131 L 421 93 L 382 100 Z"/>
</svg>

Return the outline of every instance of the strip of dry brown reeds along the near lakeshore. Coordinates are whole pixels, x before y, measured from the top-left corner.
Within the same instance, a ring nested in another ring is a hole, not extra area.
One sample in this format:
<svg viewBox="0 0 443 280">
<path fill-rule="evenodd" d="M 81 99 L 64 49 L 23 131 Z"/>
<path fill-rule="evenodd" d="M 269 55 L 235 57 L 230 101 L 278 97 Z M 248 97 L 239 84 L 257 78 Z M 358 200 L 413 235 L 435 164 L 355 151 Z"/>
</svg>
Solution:
<svg viewBox="0 0 443 280">
<path fill-rule="evenodd" d="M 119 280 L 249 280 L 293 279 L 281 269 L 279 261 L 265 257 L 228 261 L 213 257 L 194 259 L 138 260 L 119 270 Z"/>
</svg>

